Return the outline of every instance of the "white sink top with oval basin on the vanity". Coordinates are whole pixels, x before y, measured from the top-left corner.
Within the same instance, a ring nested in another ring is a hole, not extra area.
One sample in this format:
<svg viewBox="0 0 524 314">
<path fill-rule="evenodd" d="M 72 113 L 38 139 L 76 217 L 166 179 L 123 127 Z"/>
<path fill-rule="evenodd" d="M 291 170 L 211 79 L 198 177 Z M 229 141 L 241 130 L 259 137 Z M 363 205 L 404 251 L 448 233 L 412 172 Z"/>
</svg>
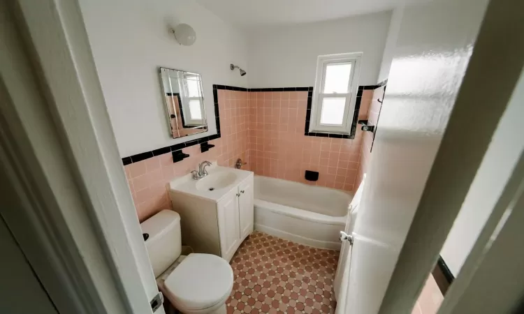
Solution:
<svg viewBox="0 0 524 314">
<path fill-rule="evenodd" d="M 218 166 L 216 162 L 206 170 L 209 174 L 200 180 L 194 180 L 191 174 L 173 179 L 169 184 L 170 190 L 218 202 L 229 191 L 237 188 L 240 182 L 253 175 L 250 171 Z"/>
</svg>

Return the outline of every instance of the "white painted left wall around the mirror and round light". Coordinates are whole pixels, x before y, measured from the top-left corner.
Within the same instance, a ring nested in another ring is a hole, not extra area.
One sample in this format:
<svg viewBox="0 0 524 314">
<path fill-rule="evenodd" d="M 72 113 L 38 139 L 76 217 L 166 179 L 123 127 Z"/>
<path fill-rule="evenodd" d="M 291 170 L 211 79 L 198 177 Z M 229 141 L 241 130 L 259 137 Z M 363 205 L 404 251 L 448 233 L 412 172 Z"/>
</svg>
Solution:
<svg viewBox="0 0 524 314">
<path fill-rule="evenodd" d="M 212 84 L 247 87 L 245 36 L 194 1 L 80 0 L 105 103 L 122 157 L 212 135 Z M 196 43 L 177 43 L 169 25 L 190 24 Z M 170 137 L 158 68 L 201 73 L 210 131 Z"/>
</svg>

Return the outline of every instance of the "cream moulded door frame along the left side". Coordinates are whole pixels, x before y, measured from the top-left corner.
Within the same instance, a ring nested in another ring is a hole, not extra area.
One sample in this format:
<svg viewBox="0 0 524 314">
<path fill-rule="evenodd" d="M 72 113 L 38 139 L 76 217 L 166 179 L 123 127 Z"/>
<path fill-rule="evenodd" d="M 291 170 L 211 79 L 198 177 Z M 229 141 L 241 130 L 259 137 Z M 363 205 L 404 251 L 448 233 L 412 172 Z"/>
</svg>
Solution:
<svg viewBox="0 0 524 314">
<path fill-rule="evenodd" d="M 60 313 L 152 313 L 158 288 L 78 2 L 0 11 L 2 218 Z"/>
</svg>

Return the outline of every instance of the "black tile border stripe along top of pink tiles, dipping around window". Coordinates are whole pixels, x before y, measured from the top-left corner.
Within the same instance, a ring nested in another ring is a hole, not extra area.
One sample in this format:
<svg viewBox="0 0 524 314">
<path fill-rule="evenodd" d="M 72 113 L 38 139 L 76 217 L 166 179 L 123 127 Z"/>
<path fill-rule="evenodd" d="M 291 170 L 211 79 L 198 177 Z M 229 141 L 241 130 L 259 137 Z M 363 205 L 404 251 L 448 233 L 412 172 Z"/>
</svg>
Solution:
<svg viewBox="0 0 524 314">
<path fill-rule="evenodd" d="M 219 105 L 218 105 L 218 93 L 217 93 L 217 90 L 219 89 L 224 89 L 228 91 L 255 91 L 255 92 L 256 91 L 307 91 L 307 112 L 306 112 L 306 124 L 305 124 L 304 135 L 316 136 L 316 137 L 344 138 L 344 139 L 352 140 L 355 138 L 355 134 L 356 134 L 356 122 L 358 120 L 358 111 L 360 110 L 360 107 L 361 107 L 362 91 L 367 90 L 367 89 L 377 89 L 387 84 L 387 82 L 388 80 L 384 80 L 383 82 L 380 82 L 379 84 L 376 84 L 376 85 L 363 85 L 363 86 L 358 87 L 357 98 L 355 102 L 355 114 L 354 114 L 353 123 L 351 124 L 351 133 L 349 135 L 340 134 L 340 133 L 309 132 L 310 119 L 311 119 L 311 106 L 312 106 L 312 98 L 313 98 L 313 87 L 275 87 L 275 88 L 263 88 L 263 89 L 248 89 L 245 87 L 233 87 L 233 86 L 228 86 L 228 85 L 213 84 L 214 117 L 215 117 L 215 122 L 217 124 L 217 134 L 204 136 L 196 140 L 190 140 L 190 141 L 182 142 L 179 144 L 161 147 L 159 149 L 154 149 L 152 151 L 145 151 L 144 153 L 136 154 L 133 156 L 124 157 L 122 158 L 122 164 L 129 165 L 131 163 L 138 163 L 138 161 L 146 160 L 154 156 L 167 154 L 172 151 L 177 151 L 180 149 L 184 149 L 186 147 L 191 147 L 197 144 L 202 144 L 210 140 L 216 140 L 217 138 L 220 138 L 221 132 L 220 132 L 220 117 L 219 117 Z"/>
</svg>

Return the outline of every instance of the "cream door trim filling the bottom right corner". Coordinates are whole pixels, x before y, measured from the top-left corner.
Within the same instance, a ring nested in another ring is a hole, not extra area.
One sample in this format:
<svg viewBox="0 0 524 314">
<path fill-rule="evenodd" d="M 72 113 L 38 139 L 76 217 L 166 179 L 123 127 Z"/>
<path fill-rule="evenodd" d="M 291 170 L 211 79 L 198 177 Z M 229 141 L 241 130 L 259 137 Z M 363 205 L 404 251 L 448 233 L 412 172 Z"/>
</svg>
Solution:
<svg viewBox="0 0 524 314">
<path fill-rule="evenodd" d="M 524 152 L 438 313 L 523 313 L 523 224 Z"/>
</svg>

